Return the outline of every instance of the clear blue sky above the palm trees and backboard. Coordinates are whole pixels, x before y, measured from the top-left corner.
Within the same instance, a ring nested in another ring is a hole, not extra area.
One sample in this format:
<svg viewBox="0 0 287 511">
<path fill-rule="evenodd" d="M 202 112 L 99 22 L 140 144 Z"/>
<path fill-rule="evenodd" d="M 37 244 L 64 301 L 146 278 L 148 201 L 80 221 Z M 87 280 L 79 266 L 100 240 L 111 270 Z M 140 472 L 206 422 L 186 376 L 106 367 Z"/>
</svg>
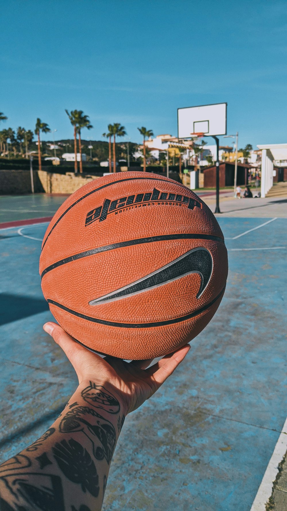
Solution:
<svg viewBox="0 0 287 511">
<path fill-rule="evenodd" d="M 40 117 L 71 138 L 76 108 L 83 138 L 120 122 L 139 142 L 138 126 L 176 135 L 178 107 L 226 101 L 240 147 L 287 142 L 285 0 L 9 0 L 0 15 L 6 128 Z"/>
</svg>

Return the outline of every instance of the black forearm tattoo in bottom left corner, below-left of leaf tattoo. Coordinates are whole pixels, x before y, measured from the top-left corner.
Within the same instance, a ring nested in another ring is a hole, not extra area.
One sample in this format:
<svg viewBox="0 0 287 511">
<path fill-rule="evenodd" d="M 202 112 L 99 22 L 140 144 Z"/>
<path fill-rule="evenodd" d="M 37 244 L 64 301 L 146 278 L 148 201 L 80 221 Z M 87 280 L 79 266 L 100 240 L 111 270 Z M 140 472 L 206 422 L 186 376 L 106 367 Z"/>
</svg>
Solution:
<svg viewBox="0 0 287 511">
<path fill-rule="evenodd" d="M 64 499 L 59 476 L 27 472 L 31 460 L 18 454 L 0 466 L 1 511 L 63 511 Z M 34 484 L 30 483 L 30 478 Z M 9 501 L 9 504 L 8 504 Z"/>
</svg>

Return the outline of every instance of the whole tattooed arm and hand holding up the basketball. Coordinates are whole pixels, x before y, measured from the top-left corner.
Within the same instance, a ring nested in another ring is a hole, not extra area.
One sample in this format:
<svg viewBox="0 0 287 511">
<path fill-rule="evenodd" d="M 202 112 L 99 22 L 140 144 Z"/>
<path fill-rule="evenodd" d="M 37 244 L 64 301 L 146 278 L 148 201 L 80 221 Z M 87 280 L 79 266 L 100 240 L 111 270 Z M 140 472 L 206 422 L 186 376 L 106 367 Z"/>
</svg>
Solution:
<svg viewBox="0 0 287 511">
<path fill-rule="evenodd" d="M 101 358 L 56 323 L 43 328 L 74 366 L 79 386 L 42 436 L 0 465 L 0 510 L 100 511 L 126 415 L 158 390 L 190 346 L 150 366 L 152 360 Z"/>
</svg>

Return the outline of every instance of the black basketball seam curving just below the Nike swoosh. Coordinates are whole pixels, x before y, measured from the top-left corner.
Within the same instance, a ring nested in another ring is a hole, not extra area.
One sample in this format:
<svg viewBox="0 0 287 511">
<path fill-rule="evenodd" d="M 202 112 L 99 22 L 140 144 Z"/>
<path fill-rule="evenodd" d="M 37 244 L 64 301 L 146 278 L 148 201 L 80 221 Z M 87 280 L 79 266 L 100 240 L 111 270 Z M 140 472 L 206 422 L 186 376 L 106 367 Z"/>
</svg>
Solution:
<svg viewBox="0 0 287 511">
<path fill-rule="evenodd" d="M 209 304 L 205 305 L 201 309 L 198 309 L 195 312 L 191 312 L 189 314 L 186 314 L 185 316 L 180 316 L 174 319 L 168 319 L 165 321 L 155 321 L 153 323 L 118 323 L 116 321 L 107 321 L 105 319 L 98 319 L 93 318 L 91 316 L 87 316 L 86 314 L 81 314 L 80 312 L 74 311 L 73 309 L 69 309 L 68 307 L 65 307 L 62 304 L 59 304 L 55 300 L 51 300 L 50 298 L 47 299 L 47 303 L 51 305 L 55 305 L 55 307 L 58 307 L 59 309 L 63 309 L 66 312 L 69 312 L 70 314 L 73 314 L 74 316 L 80 317 L 82 319 L 85 319 L 87 321 L 91 321 L 93 323 L 100 323 L 107 325 L 109 327 L 119 327 L 119 328 L 153 328 L 153 327 L 163 327 L 168 324 L 174 324 L 174 323 L 180 323 L 182 321 L 186 321 L 187 319 L 191 319 L 195 316 L 198 316 L 199 314 L 202 314 L 202 312 L 205 312 L 209 307 L 211 307 L 213 304 L 216 303 L 216 301 L 221 297 L 221 295 L 224 293 L 225 286 L 222 289 L 222 291 L 219 293 L 219 295 L 214 298 L 212 301 L 209 302 Z"/>
</svg>

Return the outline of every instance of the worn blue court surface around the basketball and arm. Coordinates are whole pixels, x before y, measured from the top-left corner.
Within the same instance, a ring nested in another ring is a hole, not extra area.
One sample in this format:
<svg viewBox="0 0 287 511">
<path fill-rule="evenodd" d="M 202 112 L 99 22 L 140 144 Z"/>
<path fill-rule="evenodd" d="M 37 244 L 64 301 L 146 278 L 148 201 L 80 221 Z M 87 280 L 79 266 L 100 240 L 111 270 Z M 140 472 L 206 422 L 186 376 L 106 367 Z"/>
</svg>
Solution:
<svg viewBox="0 0 287 511">
<path fill-rule="evenodd" d="M 229 254 L 221 306 L 127 417 L 105 511 L 249 511 L 276 445 L 287 415 L 287 219 L 218 220 Z M 52 319 L 38 274 L 46 226 L 0 230 L 2 461 L 48 428 L 77 386 L 42 330 Z"/>
</svg>

